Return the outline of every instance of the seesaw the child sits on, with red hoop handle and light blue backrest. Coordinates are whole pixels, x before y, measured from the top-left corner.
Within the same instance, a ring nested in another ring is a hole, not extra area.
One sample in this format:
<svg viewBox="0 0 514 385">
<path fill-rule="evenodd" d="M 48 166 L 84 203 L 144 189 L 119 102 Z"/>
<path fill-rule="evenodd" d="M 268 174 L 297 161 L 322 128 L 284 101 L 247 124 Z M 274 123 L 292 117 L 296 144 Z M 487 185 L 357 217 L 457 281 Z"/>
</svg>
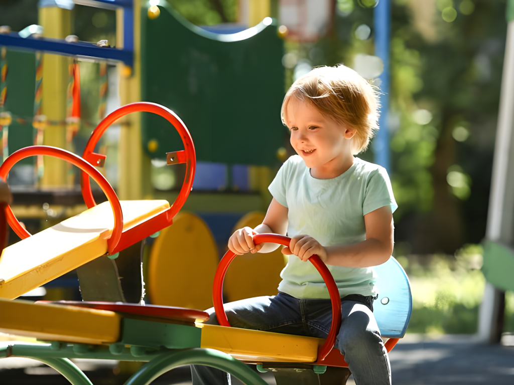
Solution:
<svg viewBox="0 0 514 385">
<path fill-rule="evenodd" d="M 287 237 L 263 234 L 255 243 L 288 244 Z M 206 325 L 208 314 L 176 307 L 108 302 L 35 303 L 0 300 L 0 331 L 51 340 L 50 343 L 5 342 L 0 356 L 40 360 L 61 372 L 73 384 L 89 384 L 69 358 L 148 361 L 126 384 L 148 384 L 160 374 L 183 364 L 204 364 L 225 370 L 247 384 L 265 382 L 241 361 L 270 370 L 277 384 L 319 384 L 327 367 L 346 368 L 344 357 L 332 349 L 340 324 L 340 301 L 335 282 L 317 257 L 311 262 L 331 291 L 333 321 L 326 340 L 230 328 L 223 312 L 221 286 L 234 255 L 224 257 L 215 277 L 213 299 L 219 323 Z M 405 333 L 410 316 L 410 290 L 403 270 L 391 259 L 379 266 L 390 287 L 382 287 L 375 315 L 390 351 Z M 400 274 L 397 274 L 400 273 Z M 392 280 L 392 279 L 393 280 Z M 407 283 L 407 285 L 405 285 Z M 379 282 L 380 285 L 380 282 Z M 339 304 L 339 306 L 338 306 Z M 380 308 L 383 306 L 383 309 Z M 296 370 L 300 369 L 300 370 Z M 349 372 L 346 370 L 346 377 Z M 341 380 L 340 373 L 339 379 Z M 323 382 L 322 382 L 323 383 Z M 341 383 L 341 382 L 339 382 Z M 344 383 L 344 381 L 342 382 Z"/>
</svg>

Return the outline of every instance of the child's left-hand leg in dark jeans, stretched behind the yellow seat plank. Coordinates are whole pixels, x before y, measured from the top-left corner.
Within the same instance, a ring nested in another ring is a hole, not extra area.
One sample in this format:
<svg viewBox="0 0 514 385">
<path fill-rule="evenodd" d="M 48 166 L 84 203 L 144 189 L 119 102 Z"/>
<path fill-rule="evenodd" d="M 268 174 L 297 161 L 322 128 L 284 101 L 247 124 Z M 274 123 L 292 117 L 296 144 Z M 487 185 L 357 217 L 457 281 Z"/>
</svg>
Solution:
<svg viewBox="0 0 514 385">
<path fill-rule="evenodd" d="M 299 300 L 279 293 L 274 297 L 256 297 L 224 305 L 231 326 L 235 328 L 303 334 Z M 217 325 L 214 308 L 207 310 L 211 318 L 205 322 Z M 228 385 L 227 373 L 201 365 L 191 365 L 193 385 Z"/>
</svg>

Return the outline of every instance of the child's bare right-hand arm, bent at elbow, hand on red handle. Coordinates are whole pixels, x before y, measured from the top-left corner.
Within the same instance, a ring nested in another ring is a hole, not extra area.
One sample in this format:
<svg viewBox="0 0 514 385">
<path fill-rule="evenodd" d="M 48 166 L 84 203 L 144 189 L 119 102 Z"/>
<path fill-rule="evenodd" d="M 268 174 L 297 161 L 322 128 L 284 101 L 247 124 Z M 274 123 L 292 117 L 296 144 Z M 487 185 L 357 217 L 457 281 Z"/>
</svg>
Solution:
<svg viewBox="0 0 514 385">
<path fill-rule="evenodd" d="M 393 253 L 394 224 L 390 206 L 384 206 L 364 216 L 366 240 L 351 245 L 323 247 L 313 237 L 299 235 L 291 239 L 290 248 L 282 253 L 294 254 L 302 261 L 317 254 L 327 265 L 369 267 L 386 262 Z"/>
</svg>

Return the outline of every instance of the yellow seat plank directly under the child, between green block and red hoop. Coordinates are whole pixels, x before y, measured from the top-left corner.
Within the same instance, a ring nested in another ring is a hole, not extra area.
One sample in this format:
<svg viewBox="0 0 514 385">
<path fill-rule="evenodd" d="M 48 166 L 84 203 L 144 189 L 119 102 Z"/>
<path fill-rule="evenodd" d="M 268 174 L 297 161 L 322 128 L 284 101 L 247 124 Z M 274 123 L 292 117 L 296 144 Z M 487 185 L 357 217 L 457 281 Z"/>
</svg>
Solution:
<svg viewBox="0 0 514 385">
<path fill-rule="evenodd" d="M 201 348 L 216 349 L 247 362 L 314 362 L 322 339 L 217 325 L 199 325 Z"/>
</svg>

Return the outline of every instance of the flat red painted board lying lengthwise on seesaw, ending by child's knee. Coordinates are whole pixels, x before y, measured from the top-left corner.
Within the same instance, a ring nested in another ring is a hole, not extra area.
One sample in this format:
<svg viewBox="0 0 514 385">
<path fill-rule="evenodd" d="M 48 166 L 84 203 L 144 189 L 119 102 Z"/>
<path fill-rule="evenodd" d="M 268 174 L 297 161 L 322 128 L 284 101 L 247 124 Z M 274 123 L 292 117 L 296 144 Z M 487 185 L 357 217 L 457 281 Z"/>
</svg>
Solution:
<svg viewBox="0 0 514 385">
<path fill-rule="evenodd" d="M 204 311 L 175 306 L 140 305 L 138 303 L 100 301 L 37 301 L 36 303 L 53 303 L 56 305 L 87 307 L 88 309 L 108 310 L 117 313 L 164 318 L 182 322 L 204 322 L 209 319 L 209 313 Z"/>
</svg>

